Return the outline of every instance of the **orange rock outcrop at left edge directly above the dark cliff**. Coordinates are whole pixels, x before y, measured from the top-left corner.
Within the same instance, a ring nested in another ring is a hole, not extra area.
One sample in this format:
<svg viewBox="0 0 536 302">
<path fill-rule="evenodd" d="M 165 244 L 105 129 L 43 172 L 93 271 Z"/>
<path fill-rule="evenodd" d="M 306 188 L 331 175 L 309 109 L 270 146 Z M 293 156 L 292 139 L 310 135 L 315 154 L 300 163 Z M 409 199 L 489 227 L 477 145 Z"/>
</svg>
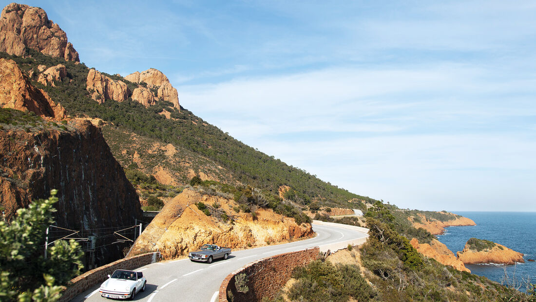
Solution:
<svg viewBox="0 0 536 302">
<path fill-rule="evenodd" d="M 0 107 L 61 120 L 65 109 L 34 87 L 13 60 L 0 58 Z"/>
</svg>

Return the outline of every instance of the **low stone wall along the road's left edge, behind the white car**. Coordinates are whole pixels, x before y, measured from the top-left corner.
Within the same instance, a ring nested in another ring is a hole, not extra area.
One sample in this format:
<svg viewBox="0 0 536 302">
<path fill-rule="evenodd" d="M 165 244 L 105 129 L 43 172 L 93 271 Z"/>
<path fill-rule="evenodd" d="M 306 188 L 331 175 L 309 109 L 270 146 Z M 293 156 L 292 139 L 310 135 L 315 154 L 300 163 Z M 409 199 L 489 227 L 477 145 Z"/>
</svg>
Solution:
<svg viewBox="0 0 536 302">
<path fill-rule="evenodd" d="M 71 279 L 72 284 L 63 290 L 62 297 L 59 301 L 69 301 L 78 296 L 78 294 L 91 289 L 94 285 L 104 282 L 108 278 L 108 275 L 111 275 L 116 269 L 134 270 L 157 262 L 158 259 L 160 259 L 160 252 L 147 253 L 120 259 L 96 269 L 86 271 L 84 274 Z"/>
</svg>

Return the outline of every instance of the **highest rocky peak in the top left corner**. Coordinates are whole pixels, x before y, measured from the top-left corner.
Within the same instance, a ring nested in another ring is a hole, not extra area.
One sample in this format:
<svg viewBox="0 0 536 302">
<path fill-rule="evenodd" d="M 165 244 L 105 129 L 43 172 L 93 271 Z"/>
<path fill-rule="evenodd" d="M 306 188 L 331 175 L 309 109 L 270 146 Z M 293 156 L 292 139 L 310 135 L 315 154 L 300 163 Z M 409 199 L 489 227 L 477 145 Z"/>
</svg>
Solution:
<svg viewBox="0 0 536 302">
<path fill-rule="evenodd" d="M 25 47 L 62 57 L 65 61 L 80 61 L 65 32 L 48 19 L 44 10 L 25 4 L 8 4 L 0 16 L 0 51 L 21 56 Z"/>
</svg>

